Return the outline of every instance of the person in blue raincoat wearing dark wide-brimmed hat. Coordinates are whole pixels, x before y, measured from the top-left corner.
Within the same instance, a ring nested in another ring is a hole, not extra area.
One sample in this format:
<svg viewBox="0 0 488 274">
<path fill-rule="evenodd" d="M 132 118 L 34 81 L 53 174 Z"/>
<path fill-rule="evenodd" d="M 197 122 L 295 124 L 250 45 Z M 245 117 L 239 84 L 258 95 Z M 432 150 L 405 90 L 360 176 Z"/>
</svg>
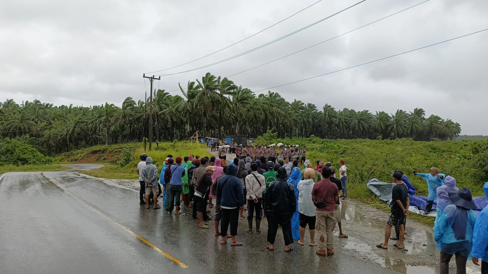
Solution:
<svg viewBox="0 0 488 274">
<path fill-rule="evenodd" d="M 476 204 L 468 188 L 449 192 L 449 198 L 453 204 L 444 209 L 444 214 L 434 226 L 436 247 L 441 250 L 440 274 L 449 274 L 449 261 L 454 254 L 457 273 L 466 273 L 466 261 L 471 256 L 473 245 L 476 222 L 473 209 Z"/>
</svg>

